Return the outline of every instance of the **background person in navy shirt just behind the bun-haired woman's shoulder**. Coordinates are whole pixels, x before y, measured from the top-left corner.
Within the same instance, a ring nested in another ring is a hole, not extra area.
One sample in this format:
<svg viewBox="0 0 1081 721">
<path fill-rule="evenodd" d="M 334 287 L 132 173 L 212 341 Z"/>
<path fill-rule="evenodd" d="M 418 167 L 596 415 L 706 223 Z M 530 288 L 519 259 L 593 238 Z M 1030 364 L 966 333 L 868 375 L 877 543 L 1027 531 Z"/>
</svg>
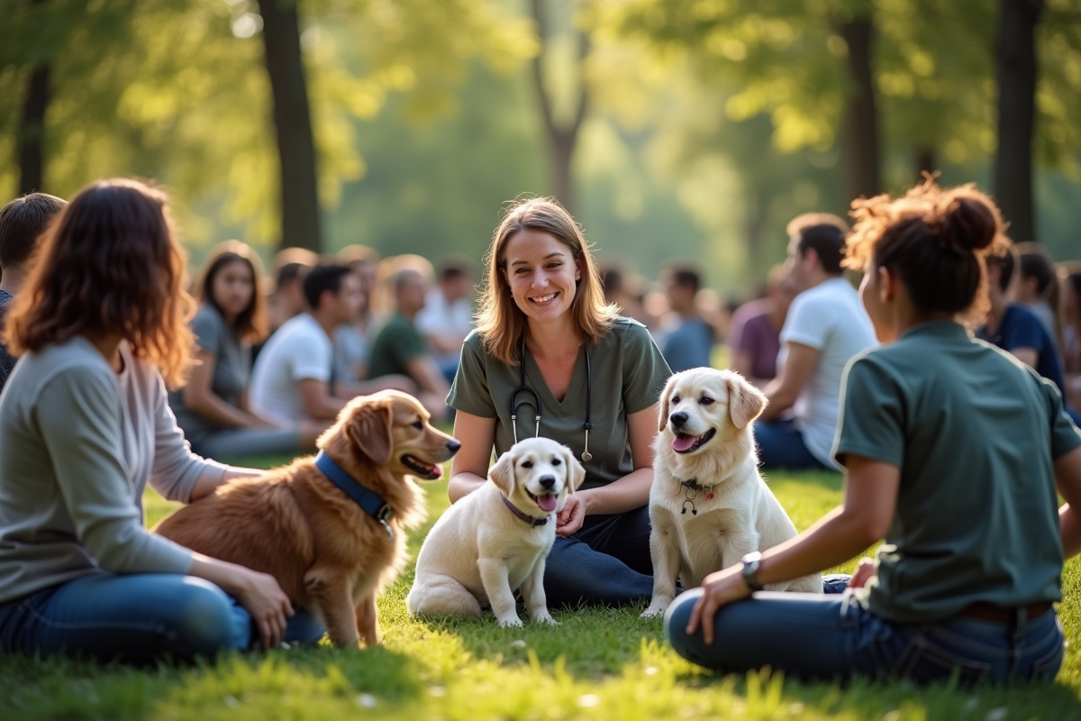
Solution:
<svg viewBox="0 0 1081 721">
<path fill-rule="evenodd" d="M 1055 348 L 1051 333 L 1036 313 L 1019 303 L 1010 301 L 1011 285 L 1017 281 L 1017 249 L 1012 245 L 1002 254 L 987 257 L 991 310 L 987 315 L 987 324 L 976 329 L 976 337 L 1013 353 L 1019 361 L 1054 383 L 1058 392 L 1066 398 L 1063 363 L 1058 359 L 1058 349 Z M 1076 423 L 1081 423 L 1081 416 L 1068 403 L 1066 412 Z"/>
</svg>

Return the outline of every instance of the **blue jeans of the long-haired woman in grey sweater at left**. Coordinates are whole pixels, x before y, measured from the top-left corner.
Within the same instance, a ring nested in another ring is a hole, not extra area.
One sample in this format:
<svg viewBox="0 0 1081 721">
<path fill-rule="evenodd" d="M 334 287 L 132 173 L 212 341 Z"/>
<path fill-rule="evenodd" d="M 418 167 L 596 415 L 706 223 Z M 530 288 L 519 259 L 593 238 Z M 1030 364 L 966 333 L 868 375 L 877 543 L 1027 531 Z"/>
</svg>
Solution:
<svg viewBox="0 0 1081 721">
<path fill-rule="evenodd" d="M 315 643 L 323 628 L 297 610 L 285 640 Z M 258 641 L 252 617 L 214 584 L 177 574 L 96 573 L 0 603 L 0 652 L 148 664 L 210 657 Z"/>
</svg>

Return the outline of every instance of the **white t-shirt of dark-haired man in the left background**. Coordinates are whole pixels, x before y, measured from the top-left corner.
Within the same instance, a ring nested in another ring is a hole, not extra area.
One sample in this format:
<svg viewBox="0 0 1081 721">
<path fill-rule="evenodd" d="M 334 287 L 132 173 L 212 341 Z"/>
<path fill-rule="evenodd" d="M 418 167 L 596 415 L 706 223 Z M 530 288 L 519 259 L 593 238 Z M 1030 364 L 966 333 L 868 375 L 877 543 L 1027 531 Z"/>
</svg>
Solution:
<svg viewBox="0 0 1081 721">
<path fill-rule="evenodd" d="M 331 339 L 315 318 L 306 312 L 290 318 L 255 359 L 252 408 L 285 425 L 307 418 L 297 384 L 305 378 L 330 383 L 333 356 Z"/>
</svg>

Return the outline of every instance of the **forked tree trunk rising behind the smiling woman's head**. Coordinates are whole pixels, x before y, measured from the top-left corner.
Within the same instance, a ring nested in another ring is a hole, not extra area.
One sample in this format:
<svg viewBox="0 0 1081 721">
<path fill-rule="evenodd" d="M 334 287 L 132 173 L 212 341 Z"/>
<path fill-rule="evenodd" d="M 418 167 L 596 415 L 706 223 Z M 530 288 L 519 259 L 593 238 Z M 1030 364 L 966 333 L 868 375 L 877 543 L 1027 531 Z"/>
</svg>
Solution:
<svg viewBox="0 0 1081 721">
<path fill-rule="evenodd" d="M 533 58 L 533 83 L 536 86 L 537 99 L 540 104 L 540 115 L 544 118 L 545 134 L 548 137 L 548 151 L 551 158 L 551 181 L 556 199 L 563 204 L 572 215 L 575 211 L 575 197 L 572 162 L 574 149 L 578 144 L 578 131 L 586 117 L 589 105 L 589 94 L 586 91 L 585 78 L 582 77 L 582 61 L 589 52 L 589 40 L 585 34 L 579 36 L 578 45 L 578 97 L 577 109 L 570 125 L 561 126 L 556 122 L 552 102 L 545 89 L 544 54 L 548 38 L 547 23 L 542 0 L 532 0 L 533 19 L 537 24 L 537 36 L 540 39 L 540 52 Z"/>
</svg>

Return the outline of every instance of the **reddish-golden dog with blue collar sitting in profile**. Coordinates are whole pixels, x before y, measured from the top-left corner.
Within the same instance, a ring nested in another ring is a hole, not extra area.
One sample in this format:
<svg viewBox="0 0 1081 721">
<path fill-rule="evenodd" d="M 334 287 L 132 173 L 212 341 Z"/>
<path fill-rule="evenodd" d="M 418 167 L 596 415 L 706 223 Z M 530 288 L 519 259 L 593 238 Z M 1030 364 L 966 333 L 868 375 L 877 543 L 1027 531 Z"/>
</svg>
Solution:
<svg viewBox="0 0 1081 721">
<path fill-rule="evenodd" d="M 425 518 L 409 478 L 433 480 L 459 444 L 429 423 L 406 393 L 356 398 L 317 443 L 393 511 L 364 511 L 316 466 L 315 457 L 223 484 L 162 521 L 155 532 L 200 553 L 269 573 L 294 605 L 315 613 L 331 641 L 379 643 L 375 599 L 405 563 L 405 529 Z"/>
</svg>

